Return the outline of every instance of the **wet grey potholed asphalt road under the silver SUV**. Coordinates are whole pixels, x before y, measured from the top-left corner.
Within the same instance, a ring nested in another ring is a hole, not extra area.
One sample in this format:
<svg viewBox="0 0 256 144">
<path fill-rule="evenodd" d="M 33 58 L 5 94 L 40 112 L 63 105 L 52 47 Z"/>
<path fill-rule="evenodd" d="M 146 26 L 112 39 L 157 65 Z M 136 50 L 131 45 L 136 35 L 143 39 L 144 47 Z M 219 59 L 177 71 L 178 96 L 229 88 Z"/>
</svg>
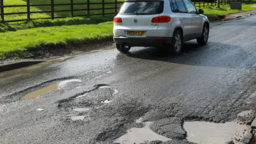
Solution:
<svg viewBox="0 0 256 144">
<path fill-rule="evenodd" d="M 191 143 L 185 121 L 254 117 L 255 34 L 250 17 L 213 23 L 209 44 L 187 42 L 178 56 L 111 49 L 0 73 L 0 143 L 113 143 L 141 127 L 165 143 Z M 43 87 L 52 91 L 21 99 Z"/>
</svg>

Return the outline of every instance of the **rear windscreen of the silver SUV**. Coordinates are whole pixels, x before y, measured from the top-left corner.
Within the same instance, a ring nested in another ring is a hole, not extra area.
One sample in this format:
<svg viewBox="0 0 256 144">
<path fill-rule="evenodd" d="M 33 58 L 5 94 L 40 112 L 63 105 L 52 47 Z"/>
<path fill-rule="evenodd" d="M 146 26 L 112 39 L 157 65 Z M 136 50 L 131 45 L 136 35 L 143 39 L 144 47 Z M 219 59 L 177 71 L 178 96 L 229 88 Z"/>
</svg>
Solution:
<svg viewBox="0 0 256 144">
<path fill-rule="evenodd" d="M 132 1 L 124 2 L 119 14 L 121 15 L 150 15 L 160 14 L 164 10 L 163 1 Z"/>
</svg>

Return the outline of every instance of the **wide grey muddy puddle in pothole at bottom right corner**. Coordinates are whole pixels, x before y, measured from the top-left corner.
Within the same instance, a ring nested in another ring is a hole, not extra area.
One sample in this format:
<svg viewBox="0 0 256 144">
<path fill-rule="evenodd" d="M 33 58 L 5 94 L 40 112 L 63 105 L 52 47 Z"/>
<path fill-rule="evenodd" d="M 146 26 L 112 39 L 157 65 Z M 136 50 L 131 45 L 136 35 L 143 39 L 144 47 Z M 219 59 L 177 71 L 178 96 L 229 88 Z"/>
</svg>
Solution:
<svg viewBox="0 0 256 144">
<path fill-rule="evenodd" d="M 226 143 L 243 137 L 249 130 L 249 125 L 240 125 L 237 122 L 212 123 L 212 122 L 185 122 L 183 125 L 187 131 L 187 139 L 190 142 L 200 144 Z"/>
</svg>

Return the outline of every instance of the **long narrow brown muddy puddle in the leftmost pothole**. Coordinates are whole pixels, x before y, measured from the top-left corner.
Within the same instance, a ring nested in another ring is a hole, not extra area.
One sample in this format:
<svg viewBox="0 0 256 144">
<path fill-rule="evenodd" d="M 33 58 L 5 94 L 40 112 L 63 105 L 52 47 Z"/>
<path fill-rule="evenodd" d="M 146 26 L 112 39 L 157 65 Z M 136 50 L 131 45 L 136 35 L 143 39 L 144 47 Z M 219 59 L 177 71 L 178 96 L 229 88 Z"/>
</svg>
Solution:
<svg viewBox="0 0 256 144">
<path fill-rule="evenodd" d="M 35 98 L 39 97 L 39 95 L 44 94 L 45 92 L 49 92 L 49 91 L 53 91 L 53 90 L 60 90 L 69 82 L 81 82 L 81 80 L 80 79 L 69 79 L 66 81 L 60 81 L 58 83 L 51 84 L 49 86 L 46 86 L 46 87 L 36 90 L 34 92 L 30 92 L 30 93 L 24 95 L 21 99 L 22 100 L 35 99 Z"/>
</svg>

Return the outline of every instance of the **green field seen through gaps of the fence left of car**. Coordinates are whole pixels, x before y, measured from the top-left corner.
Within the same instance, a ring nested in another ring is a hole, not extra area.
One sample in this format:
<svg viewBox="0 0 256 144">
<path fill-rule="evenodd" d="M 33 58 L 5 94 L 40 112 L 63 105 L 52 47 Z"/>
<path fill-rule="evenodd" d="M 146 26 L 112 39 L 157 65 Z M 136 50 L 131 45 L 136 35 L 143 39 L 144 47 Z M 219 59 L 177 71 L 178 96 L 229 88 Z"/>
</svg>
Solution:
<svg viewBox="0 0 256 144">
<path fill-rule="evenodd" d="M 118 0 L 119 1 L 119 0 Z M 122 2 L 122 0 L 120 0 Z M 74 3 L 86 3 L 86 0 L 74 0 Z M 91 3 L 102 3 L 102 0 L 91 0 Z M 115 2 L 114 0 L 105 0 L 105 2 Z M 54 0 L 55 4 L 70 3 L 70 0 Z M 4 5 L 24 5 L 26 0 L 4 0 Z M 51 4 L 51 0 L 30 0 L 30 4 Z M 117 7 L 120 7 L 118 4 Z M 115 7 L 115 4 L 105 4 L 105 7 Z M 102 8 L 102 4 L 91 4 L 90 9 Z M 74 5 L 75 9 L 87 9 L 87 5 Z M 70 10 L 70 5 L 54 6 L 54 10 Z M 5 13 L 26 12 L 27 7 L 5 7 Z M 51 6 L 34 6 L 30 7 L 30 11 L 51 11 Z M 114 13 L 115 9 L 105 10 L 105 13 Z M 90 14 L 101 14 L 102 10 L 91 10 Z M 86 15 L 87 11 L 74 11 L 74 15 Z M 54 17 L 69 17 L 70 12 L 55 12 Z M 31 19 L 50 18 L 51 13 L 31 14 Z M 5 15 L 5 20 L 21 20 L 27 19 L 27 14 Z"/>
</svg>

